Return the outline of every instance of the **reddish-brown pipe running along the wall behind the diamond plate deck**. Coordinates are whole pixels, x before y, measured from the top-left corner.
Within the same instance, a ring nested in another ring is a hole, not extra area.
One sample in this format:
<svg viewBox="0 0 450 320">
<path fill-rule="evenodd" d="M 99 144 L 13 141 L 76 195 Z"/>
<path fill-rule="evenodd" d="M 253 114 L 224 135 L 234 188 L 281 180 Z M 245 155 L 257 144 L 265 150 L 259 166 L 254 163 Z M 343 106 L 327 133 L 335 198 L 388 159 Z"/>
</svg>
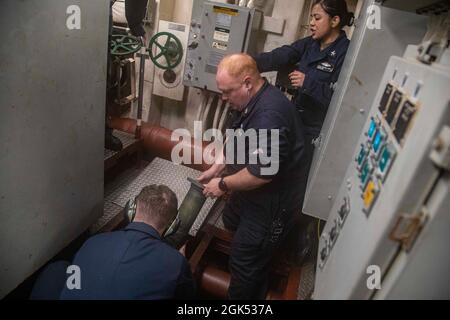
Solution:
<svg viewBox="0 0 450 320">
<path fill-rule="evenodd" d="M 109 120 L 109 125 L 113 129 L 130 134 L 135 134 L 136 131 L 136 120 L 134 119 L 111 118 Z M 172 161 L 172 149 L 179 143 L 179 141 L 172 141 L 171 136 L 172 131 L 169 129 L 151 126 L 148 123 L 142 122 L 141 138 L 144 143 L 144 149 L 152 156 Z M 183 143 L 186 144 L 186 139 L 183 140 Z M 209 169 L 211 165 L 208 165 L 203 161 L 202 164 L 194 164 L 194 152 L 201 148 L 201 150 L 197 152 L 202 152 L 203 154 L 203 148 L 205 148 L 208 144 L 207 142 L 202 142 L 200 145 L 201 146 L 195 144 L 194 139 L 191 139 L 190 143 L 188 142 L 188 145 L 186 145 L 185 148 L 191 148 L 191 164 L 183 163 L 183 165 L 196 170 L 205 171 Z"/>
</svg>

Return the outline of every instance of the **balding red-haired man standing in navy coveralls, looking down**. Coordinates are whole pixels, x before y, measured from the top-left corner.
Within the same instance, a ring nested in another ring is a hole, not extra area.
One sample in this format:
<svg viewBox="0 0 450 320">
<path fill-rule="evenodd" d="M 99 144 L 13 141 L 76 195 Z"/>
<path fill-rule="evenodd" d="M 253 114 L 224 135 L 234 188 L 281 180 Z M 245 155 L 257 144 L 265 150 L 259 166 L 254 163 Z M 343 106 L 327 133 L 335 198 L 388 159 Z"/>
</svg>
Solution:
<svg viewBox="0 0 450 320">
<path fill-rule="evenodd" d="M 225 57 L 216 82 L 222 100 L 239 117 L 232 126 L 236 134 L 227 136 L 226 162 L 219 160 L 199 181 L 206 183 L 206 196 L 231 192 L 223 212 L 225 227 L 234 231 L 228 297 L 264 299 L 270 261 L 301 208 L 299 195 L 306 185 L 303 128 L 295 106 L 261 77 L 250 56 Z M 257 144 L 245 138 L 252 134 Z M 251 161 L 255 155 L 258 161 Z"/>
</svg>

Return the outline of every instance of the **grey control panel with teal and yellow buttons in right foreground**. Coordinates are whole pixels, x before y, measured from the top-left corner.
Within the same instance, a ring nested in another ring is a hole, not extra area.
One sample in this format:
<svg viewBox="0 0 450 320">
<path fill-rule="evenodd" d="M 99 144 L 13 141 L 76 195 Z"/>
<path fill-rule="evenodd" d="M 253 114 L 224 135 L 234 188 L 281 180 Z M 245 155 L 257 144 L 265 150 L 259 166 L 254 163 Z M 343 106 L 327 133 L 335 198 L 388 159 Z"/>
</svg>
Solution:
<svg viewBox="0 0 450 320">
<path fill-rule="evenodd" d="M 430 221 L 442 211 L 433 199 L 442 204 L 449 197 L 447 187 L 437 197 L 446 168 L 431 157 L 437 147 L 447 150 L 445 139 L 438 137 L 450 125 L 448 88 L 448 66 L 390 59 L 321 235 L 315 299 L 373 297 L 373 270 L 379 270 L 379 281 L 395 277 L 391 272 L 399 254 L 405 256 L 398 269 L 403 270 L 414 246 L 428 241 L 421 233 L 427 234 L 434 225 Z M 442 247 L 439 242 L 448 243 L 448 231 L 447 226 L 433 236 L 436 248 Z M 428 254 L 433 258 L 423 266 L 450 265 L 448 249 Z M 447 274 L 430 273 L 422 280 L 433 282 L 434 291 L 445 295 L 448 282 L 441 278 Z"/>
</svg>

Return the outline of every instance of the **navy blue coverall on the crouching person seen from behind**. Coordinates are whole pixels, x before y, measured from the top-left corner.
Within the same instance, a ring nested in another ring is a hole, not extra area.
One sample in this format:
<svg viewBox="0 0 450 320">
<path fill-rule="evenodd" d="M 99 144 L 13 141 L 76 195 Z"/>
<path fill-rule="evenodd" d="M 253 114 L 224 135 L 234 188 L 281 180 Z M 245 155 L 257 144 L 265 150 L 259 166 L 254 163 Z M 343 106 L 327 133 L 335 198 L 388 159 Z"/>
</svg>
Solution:
<svg viewBox="0 0 450 320">
<path fill-rule="evenodd" d="M 186 259 L 142 222 L 90 238 L 72 264 L 81 270 L 81 289 L 64 286 L 61 299 L 194 298 Z"/>
</svg>

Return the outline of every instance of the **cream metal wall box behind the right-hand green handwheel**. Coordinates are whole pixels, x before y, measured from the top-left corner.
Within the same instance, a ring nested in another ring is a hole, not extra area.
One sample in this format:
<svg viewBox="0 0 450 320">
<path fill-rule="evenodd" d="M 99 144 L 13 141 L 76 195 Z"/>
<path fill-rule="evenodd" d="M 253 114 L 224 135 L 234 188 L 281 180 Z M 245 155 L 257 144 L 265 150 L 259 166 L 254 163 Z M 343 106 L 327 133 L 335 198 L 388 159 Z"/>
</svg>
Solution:
<svg viewBox="0 0 450 320">
<path fill-rule="evenodd" d="M 159 21 L 158 32 L 168 32 L 177 37 L 183 46 L 181 62 L 173 69 L 164 70 L 155 66 L 155 79 L 153 82 L 153 94 L 176 101 L 182 101 L 184 95 L 183 72 L 186 59 L 186 44 L 189 28 L 184 24 L 169 21 Z M 158 40 L 164 43 L 166 40 Z"/>
</svg>

